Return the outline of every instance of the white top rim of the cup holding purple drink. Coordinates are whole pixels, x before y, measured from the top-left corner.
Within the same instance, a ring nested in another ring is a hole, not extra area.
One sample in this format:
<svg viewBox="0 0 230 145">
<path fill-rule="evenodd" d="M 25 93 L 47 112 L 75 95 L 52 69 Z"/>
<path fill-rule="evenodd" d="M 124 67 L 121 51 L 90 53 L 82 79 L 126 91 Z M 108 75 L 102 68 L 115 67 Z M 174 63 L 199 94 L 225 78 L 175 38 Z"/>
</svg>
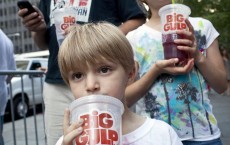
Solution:
<svg viewBox="0 0 230 145">
<path fill-rule="evenodd" d="M 168 5 L 165 5 L 165 6 L 163 6 L 163 7 L 161 7 L 159 9 L 158 14 L 161 15 L 161 13 L 163 11 L 165 11 L 167 9 L 173 9 L 175 7 L 180 7 L 181 9 L 184 9 L 184 10 L 181 10 L 181 11 L 187 12 L 188 16 L 191 14 L 191 9 L 188 6 L 184 5 L 184 4 L 168 4 Z"/>
</svg>

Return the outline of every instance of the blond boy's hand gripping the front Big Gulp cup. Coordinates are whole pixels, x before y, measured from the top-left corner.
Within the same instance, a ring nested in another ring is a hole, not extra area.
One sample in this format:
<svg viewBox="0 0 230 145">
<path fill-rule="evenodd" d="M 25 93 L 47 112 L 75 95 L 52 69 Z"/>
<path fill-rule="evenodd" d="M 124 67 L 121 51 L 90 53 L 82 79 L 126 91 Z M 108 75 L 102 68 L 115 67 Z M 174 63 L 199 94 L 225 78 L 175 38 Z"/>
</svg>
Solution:
<svg viewBox="0 0 230 145">
<path fill-rule="evenodd" d="M 77 122 L 73 122 L 71 125 L 70 123 L 70 110 L 66 109 L 64 114 L 64 121 L 63 121 L 63 129 L 64 129 L 64 137 L 62 145 L 72 145 L 74 139 L 79 136 L 82 131 L 82 124 L 83 120 L 80 119 Z"/>
</svg>

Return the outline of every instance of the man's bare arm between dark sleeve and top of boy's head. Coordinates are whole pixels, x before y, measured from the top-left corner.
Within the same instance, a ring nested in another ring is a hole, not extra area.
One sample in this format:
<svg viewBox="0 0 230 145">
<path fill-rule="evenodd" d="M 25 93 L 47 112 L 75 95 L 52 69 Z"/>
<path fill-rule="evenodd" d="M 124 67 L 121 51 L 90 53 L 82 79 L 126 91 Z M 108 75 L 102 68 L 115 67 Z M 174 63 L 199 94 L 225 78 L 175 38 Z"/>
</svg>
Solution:
<svg viewBox="0 0 230 145">
<path fill-rule="evenodd" d="M 120 30 L 126 35 L 128 32 L 138 28 L 145 23 L 145 18 L 131 19 L 119 26 Z"/>
</svg>

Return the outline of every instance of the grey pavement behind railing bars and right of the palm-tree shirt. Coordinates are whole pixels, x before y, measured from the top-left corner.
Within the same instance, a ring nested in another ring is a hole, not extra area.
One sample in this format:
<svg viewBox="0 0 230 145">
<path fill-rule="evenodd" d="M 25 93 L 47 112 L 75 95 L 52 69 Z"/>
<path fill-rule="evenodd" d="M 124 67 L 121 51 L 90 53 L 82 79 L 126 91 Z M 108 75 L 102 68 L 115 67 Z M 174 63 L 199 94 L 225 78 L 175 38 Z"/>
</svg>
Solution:
<svg viewBox="0 0 230 145">
<path fill-rule="evenodd" d="M 213 104 L 213 112 L 222 132 L 221 139 L 223 145 L 230 145 L 230 96 L 219 95 L 214 91 L 211 91 L 210 94 L 210 100 Z M 43 115 L 38 114 L 36 118 L 38 126 L 38 145 L 45 145 Z M 26 122 L 28 145 L 37 145 L 34 129 L 34 117 L 28 117 Z M 15 128 L 17 145 L 26 145 L 23 119 L 15 121 Z M 3 137 L 5 145 L 14 145 L 11 122 L 4 124 Z"/>
</svg>

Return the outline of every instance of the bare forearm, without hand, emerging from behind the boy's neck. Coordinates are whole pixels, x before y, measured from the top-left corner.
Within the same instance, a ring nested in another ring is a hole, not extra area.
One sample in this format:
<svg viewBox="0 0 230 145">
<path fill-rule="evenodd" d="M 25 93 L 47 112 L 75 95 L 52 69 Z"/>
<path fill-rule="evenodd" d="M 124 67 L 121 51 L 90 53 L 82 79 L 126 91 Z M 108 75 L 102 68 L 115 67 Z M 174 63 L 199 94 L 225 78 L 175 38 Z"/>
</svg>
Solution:
<svg viewBox="0 0 230 145">
<path fill-rule="evenodd" d="M 159 75 L 160 72 L 154 64 L 144 76 L 126 88 L 125 97 L 128 107 L 131 107 L 146 94 Z"/>
</svg>

